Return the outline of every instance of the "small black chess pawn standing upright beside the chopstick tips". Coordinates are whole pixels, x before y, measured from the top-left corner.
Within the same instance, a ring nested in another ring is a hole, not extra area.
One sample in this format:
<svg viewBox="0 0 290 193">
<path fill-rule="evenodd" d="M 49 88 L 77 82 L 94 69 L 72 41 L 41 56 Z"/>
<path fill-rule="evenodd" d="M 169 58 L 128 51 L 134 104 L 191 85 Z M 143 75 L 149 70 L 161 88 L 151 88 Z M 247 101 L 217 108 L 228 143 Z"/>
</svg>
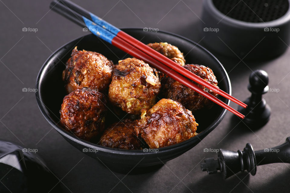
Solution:
<svg viewBox="0 0 290 193">
<path fill-rule="evenodd" d="M 244 102 L 248 107 L 245 109 L 240 106 L 238 111 L 245 115 L 242 121 L 246 125 L 252 128 L 259 128 L 269 121 L 271 115 L 269 105 L 266 104 L 265 99 L 262 99 L 262 95 L 269 91 L 268 74 L 263 70 L 256 70 L 251 73 L 249 81 L 248 89 L 252 96 Z"/>
</svg>

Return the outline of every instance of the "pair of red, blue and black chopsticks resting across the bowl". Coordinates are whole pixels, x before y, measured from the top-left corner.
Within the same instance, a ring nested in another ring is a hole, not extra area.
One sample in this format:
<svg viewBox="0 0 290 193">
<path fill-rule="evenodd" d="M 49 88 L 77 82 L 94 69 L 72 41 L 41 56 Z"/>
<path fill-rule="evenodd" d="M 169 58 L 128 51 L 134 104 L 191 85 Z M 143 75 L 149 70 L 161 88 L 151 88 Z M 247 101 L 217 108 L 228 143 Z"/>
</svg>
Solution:
<svg viewBox="0 0 290 193">
<path fill-rule="evenodd" d="M 232 107 L 228 106 L 218 98 L 212 96 L 205 90 L 201 89 L 187 78 L 191 79 L 197 84 L 203 85 L 208 89 L 215 91 L 219 95 L 224 96 L 225 98 L 237 103 L 238 105 L 244 108 L 247 107 L 245 103 L 237 100 L 233 96 L 230 96 L 228 93 L 215 87 L 214 85 L 200 78 L 191 71 L 188 71 L 182 66 L 177 65 L 175 62 L 173 62 L 166 56 L 153 50 L 149 46 L 143 44 L 142 42 L 130 36 L 129 34 L 102 20 L 98 16 L 85 10 L 79 5 L 76 5 L 75 3 L 69 0 L 59 0 L 59 1 L 54 0 L 53 2 L 51 2 L 50 8 L 53 11 L 56 11 L 57 13 L 73 21 L 74 23 L 82 27 L 87 27 L 91 33 L 98 36 L 99 38 L 105 40 L 106 42 L 112 44 L 113 46 L 116 46 L 117 48 L 123 50 L 124 52 L 134 56 L 135 58 L 143 60 L 144 62 L 150 64 L 153 68 L 158 69 L 159 71 L 163 72 L 164 74 L 173 78 L 174 80 L 180 82 L 186 87 L 191 88 L 195 92 L 205 96 L 214 103 L 217 103 L 218 105 L 229 110 L 230 112 L 233 112 L 240 118 L 243 119 L 245 117 L 243 114 L 233 109 Z"/>
</svg>

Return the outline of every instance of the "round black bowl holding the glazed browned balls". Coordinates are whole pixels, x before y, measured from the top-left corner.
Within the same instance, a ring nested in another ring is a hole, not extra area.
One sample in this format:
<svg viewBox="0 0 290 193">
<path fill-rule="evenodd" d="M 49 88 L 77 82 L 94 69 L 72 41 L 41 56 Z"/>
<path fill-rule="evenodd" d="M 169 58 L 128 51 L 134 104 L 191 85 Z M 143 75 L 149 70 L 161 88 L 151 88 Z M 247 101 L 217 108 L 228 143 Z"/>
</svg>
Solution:
<svg viewBox="0 0 290 193">
<path fill-rule="evenodd" d="M 177 46 L 184 54 L 186 63 L 200 64 L 211 68 L 217 77 L 218 86 L 225 92 L 231 94 L 230 80 L 221 63 L 205 48 L 197 43 L 188 40 L 182 36 L 164 31 L 148 32 L 139 28 L 123 29 L 126 33 L 141 40 L 143 43 L 168 42 Z M 114 64 L 118 60 L 130 57 L 125 52 L 100 40 L 98 37 L 89 34 L 73 40 L 60 49 L 56 50 L 43 64 L 37 76 L 36 93 L 37 104 L 45 119 L 74 147 L 83 151 L 85 154 L 101 161 L 106 166 L 120 171 L 127 171 L 134 167 L 142 168 L 154 166 L 172 160 L 192 147 L 197 145 L 205 136 L 207 136 L 224 118 L 227 110 L 215 105 L 210 110 L 194 113 L 198 122 L 199 133 L 197 136 L 188 139 L 179 144 L 169 147 L 159 148 L 158 151 L 145 152 L 144 150 L 121 150 L 93 144 L 88 141 L 76 138 L 73 134 L 65 131 L 59 124 L 60 106 L 63 97 L 66 95 L 64 83 L 61 80 L 62 71 L 65 63 L 69 59 L 72 49 L 78 46 L 78 49 L 99 52 Z M 230 101 L 222 98 L 221 100 L 229 104 Z"/>
</svg>

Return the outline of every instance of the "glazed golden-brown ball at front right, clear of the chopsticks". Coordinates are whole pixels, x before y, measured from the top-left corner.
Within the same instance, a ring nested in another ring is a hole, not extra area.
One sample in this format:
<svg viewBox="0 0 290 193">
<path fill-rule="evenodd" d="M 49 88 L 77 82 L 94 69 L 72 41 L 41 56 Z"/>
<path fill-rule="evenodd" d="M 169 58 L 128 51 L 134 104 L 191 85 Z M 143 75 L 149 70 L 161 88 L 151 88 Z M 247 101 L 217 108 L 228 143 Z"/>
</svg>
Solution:
<svg viewBox="0 0 290 193">
<path fill-rule="evenodd" d="M 191 111 L 174 100 L 161 99 L 147 112 L 142 112 L 135 131 L 150 148 L 159 148 L 195 136 L 197 126 Z"/>
</svg>

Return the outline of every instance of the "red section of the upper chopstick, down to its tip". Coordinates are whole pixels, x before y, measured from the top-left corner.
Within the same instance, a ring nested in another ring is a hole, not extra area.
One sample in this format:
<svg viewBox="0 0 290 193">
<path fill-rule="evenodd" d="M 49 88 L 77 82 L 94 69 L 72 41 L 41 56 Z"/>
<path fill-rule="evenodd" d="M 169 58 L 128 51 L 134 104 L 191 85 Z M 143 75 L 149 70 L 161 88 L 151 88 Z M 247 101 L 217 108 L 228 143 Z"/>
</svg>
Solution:
<svg viewBox="0 0 290 193">
<path fill-rule="evenodd" d="M 247 104 L 241 102 L 240 100 L 237 100 L 235 97 L 229 95 L 228 93 L 224 92 L 223 90 L 215 87 L 214 85 L 210 84 L 209 82 L 205 81 L 204 79 L 200 78 L 196 74 L 192 73 L 191 71 L 183 68 L 180 65 L 176 65 L 175 62 L 167 58 L 166 56 L 160 54 L 159 52 L 155 51 L 154 49 L 148 47 L 144 43 L 140 42 L 139 40 L 135 39 L 134 37 L 130 36 L 129 34 L 125 33 L 124 31 L 119 31 L 117 33 L 117 36 L 123 39 L 124 41 L 132 44 L 133 46 L 137 47 L 138 49 L 142 50 L 146 54 L 150 55 L 154 59 L 158 60 L 159 62 L 162 62 L 169 68 L 172 68 L 173 70 L 177 71 L 178 73 L 186 76 L 187 78 L 190 78 L 192 81 L 195 81 L 196 83 L 205 86 L 216 93 L 220 94 L 221 96 L 224 96 L 225 98 L 237 103 L 238 105 L 247 108 Z"/>
</svg>

